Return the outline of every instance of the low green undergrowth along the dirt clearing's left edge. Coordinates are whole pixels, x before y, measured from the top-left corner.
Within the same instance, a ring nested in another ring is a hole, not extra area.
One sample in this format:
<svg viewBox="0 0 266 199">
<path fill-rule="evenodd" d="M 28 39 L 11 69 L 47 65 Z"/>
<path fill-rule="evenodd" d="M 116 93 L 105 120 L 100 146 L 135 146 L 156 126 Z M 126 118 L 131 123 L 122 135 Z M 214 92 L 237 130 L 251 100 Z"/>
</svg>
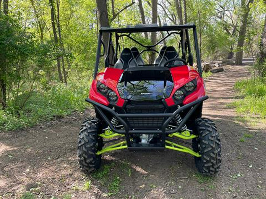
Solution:
<svg viewBox="0 0 266 199">
<path fill-rule="evenodd" d="M 69 79 L 67 86 L 63 83 L 37 86 L 29 98 L 29 93 L 21 93 L 8 101 L 6 110 L 0 109 L 0 130 L 21 129 L 51 120 L 55 116 L 64 117 L 73 111 L 84 111 L 89 105 L 84 100 L 89 87 L 86 79 Z M 20 108 L 26 99 L 25 105 Z"/>
</svg>

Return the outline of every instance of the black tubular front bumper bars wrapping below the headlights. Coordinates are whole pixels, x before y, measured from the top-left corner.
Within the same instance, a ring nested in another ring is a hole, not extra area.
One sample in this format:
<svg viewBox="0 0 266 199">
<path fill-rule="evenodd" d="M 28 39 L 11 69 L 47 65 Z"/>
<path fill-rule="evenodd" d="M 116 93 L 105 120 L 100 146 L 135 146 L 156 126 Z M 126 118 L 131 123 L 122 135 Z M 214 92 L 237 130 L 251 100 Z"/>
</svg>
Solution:
<svg viewBox="0 0 266 199">
<path fill-rule="evenodd" d="M 126 136 L 128 136 L 129 134 L 163 134 L 163 136 L 165 134 L 171 134 L 171 133 L 175 133 L 178 132 L 181 127 L 186 123 L 186 121 L 189 119 L 189 117 L 193 114 L 193 112 L 198 108 L 198 106 L 200 105 L 200 103 L 202 103 L 202 101 L 205 101 L 206 99 L 208 99 L 208 96 L 204 96 L 201 97 L 191 103 L 188 103 L 184 106 L 181 106 L 180 108 L 178 108 L 176 111 L 174 111 L 173 113 L 153 113 L 153 114 L 147 114 L 147 113 L 137 113 L 137 114 L 118 114 L 116 113 L 113 109 L 104 106 L 103 104 L 100 104 L 98 102 L 95 102 L 89 98 L 86 99 L 87 102 L 91 103 L 95 110 L 98 112 L 98 114 L 102 117 L 102 119 L 106 122 L 106 124 L 108 124 L 108 126 L 110 127 L 110 129 L 113 132 L 116 132 L 118 134 L 125 134 Z M 187 114 L 184 116 L 182 122 L 179 124 L 179 126 L 177 126 L 176 128 L 173 129 L 166 129 L 167 125 L 173 120 L 173 118 L 181 113 L 182 111 L 186 110 L 190 108 L 190 110 L 187 112 Z M 123 126 L 124 129 L 117 129 L 115 128 L 110 120 L 108 119 L 108 117 L 106 116 L 106 114 L 103 113 L 104 111 L 107 111 L 108 113 L 110 113 L 112 116 L 114 116 Z M 124 120 L 124 118 L 138 118 L 138 117 L 147 117 L 147 118 L 165 118 L 165 121 L 163 122 L 161 129 L 130 129 L 128 123 Z"/>
</svg>

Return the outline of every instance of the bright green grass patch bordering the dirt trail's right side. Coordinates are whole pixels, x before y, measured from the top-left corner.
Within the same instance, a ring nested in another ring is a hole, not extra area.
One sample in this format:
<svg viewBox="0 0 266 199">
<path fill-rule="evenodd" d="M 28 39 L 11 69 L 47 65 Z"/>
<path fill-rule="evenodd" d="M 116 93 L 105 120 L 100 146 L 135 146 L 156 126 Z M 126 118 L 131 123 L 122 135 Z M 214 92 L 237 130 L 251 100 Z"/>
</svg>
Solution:
<svg viewBox="0 0 266 199">
<path fill-rule="evenodd" d="M 235 84 L 235 89 L 241 99 L 231 105 L 239 114 L 266 118 L 266 78 L 238 81 Z"/>
</svg>

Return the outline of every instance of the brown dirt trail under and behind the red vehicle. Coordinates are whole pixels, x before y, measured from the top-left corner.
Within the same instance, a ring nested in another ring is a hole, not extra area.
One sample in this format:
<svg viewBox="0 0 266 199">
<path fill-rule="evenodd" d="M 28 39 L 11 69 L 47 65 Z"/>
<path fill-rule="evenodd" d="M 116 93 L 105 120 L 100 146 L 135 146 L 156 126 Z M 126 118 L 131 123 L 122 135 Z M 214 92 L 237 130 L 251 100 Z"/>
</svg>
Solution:
<svg viewBox="0 0 266 199">
<path fill-rule="evenodd" d="M 77 165 L 76 145 L 82 120 L 73 114 L 44 126 L 0 133 L 0 198 L 19 198 L 30 191 L 36 198 L 266 198 L 266 134 L 236 122 L 233 109 L 236 80 L 249 76 L 233 66 L 206 81 L 210 99 L 204 117 L 215 121 L 222 141 L 222 169 L 213 178 L 199 175 L 189 154 L 116 151 L 103 157 L 107 165 L 86 177 Z M 244 135 L 245 142 L 239 142 Z M 89 190 L 85 182 L 91 180 Z M 120 182 L 120 184 L 119 184 Z"/>
</svg>

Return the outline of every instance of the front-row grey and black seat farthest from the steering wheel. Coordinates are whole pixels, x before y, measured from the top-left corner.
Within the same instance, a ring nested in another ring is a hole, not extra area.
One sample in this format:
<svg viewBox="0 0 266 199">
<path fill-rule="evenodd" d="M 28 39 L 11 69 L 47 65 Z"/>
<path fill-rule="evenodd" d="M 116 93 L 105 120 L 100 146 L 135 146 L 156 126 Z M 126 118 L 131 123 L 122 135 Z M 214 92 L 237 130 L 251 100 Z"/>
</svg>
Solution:
<svg viewBox="0 0 266 199">
<path fill-rule="evenodd" d="M 134 59 L 131 50 L 129 48 L 124 48 L 121 52 L 119 59 L 115 63 L 114 68 L 126 69 L 137 66 L 138 64 Z"/>
</svg>

